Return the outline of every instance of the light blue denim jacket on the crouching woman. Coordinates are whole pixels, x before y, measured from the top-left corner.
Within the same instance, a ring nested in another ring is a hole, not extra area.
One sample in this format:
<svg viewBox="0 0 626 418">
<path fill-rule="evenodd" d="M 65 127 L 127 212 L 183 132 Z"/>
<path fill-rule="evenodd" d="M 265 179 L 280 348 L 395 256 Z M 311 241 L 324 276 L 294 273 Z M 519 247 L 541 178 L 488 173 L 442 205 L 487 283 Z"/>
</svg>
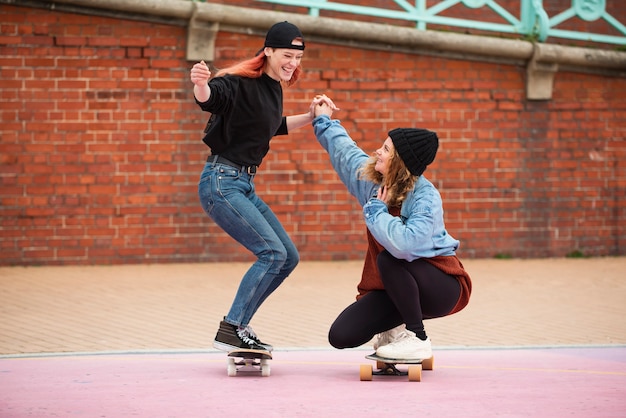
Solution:
<svg viewBox="0 0 626 418">
<path fill-rule="evenodd" d="M 370 156 L 340 122 L 321 115 L 313 120 L 313 129 L 339 178 L 363 207 L 367 228 L 391 255 L 407 261 L 455 255 L 459 241 L 446 231 L 441 195 L 430 181 L 420 176 L 402 204 L 400 217 L 393 216 L 385 202 L 375 197 L 379 186 L 359 178 L 359 169 Z"/>
</svg>

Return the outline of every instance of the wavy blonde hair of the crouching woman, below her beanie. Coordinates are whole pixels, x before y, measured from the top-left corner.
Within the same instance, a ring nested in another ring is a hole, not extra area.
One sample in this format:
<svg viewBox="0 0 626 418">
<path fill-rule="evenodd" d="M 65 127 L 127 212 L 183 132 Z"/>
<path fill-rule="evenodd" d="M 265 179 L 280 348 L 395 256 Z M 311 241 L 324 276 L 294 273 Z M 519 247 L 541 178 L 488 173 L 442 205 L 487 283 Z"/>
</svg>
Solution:
<svg viewBox="0 0 626 418">
<path fill-rule="evenodd" d="M 402 161 L 395 147 L 393 155 L 389 160 L 386 176 L 383 176 L 374 168 L 376 166 L 376 160 L 377 157 L 372 155 L 370 159 L 363 164 L 360 170 L 360 177 L 387 189 L 387 204 L 389 207 L 402 206 L 402 202 L 406 199 L 407 194 L 415 187 L 418 176 L 411 174 L 406 165 L 404 165 L 404 161 Z"/>
</svg>

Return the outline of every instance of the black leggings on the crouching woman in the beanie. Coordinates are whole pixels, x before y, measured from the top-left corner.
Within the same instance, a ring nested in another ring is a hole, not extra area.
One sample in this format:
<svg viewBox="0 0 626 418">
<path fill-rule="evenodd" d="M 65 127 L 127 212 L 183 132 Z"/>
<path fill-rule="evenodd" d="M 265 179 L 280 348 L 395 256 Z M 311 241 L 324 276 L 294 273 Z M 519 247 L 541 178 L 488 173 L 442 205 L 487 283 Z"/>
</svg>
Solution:
<svg viewBox="0 0 626 418">
<path fill-rule="evenodd" d="M 410 331 L 424 331 L 424 319 L 448 315 L 459 300 L 456 277 L 427 261 L 399 260 L 383 251 L 377 263 L 385 290 L 367 293 L 339 314 L 328 332 L 333 347 L 358 347 L 402 323 Z"/>
</svg>

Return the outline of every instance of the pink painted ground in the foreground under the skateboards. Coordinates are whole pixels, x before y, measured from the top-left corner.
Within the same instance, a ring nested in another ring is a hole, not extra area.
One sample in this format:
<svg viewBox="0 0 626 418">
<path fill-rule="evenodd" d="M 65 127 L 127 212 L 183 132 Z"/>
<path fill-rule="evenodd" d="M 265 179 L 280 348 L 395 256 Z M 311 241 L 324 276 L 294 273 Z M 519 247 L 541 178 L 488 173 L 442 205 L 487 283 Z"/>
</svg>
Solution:
<svg viewBox="0 0 626 418">
<path fill-rule="evenodd" d="M 439 350 L 422 382 L 359 380 L 363 350 L 0 358 L 0 417 L 624 417 L 626 347 Z"/>
</svg>

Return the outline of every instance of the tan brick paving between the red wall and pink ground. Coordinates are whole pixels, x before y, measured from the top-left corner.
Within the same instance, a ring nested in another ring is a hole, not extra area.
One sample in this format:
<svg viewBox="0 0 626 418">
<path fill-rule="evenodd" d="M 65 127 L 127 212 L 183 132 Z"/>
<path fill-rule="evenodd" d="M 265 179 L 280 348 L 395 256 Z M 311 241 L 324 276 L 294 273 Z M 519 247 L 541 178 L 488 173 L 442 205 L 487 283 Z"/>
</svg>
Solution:
<svg viewBox="0 0 626 418">
<path fill-rule="evenodd" d="M 464 260 L 468 307 L 426 322 L 434 347 L 626 344 L 626 257 Z M 248 264 L 0 268 L 0 355 L 204 350 Z M 330 348 L 361 263 L 303 262 L 252 326 L 276 349 Z"/>
</svg>

